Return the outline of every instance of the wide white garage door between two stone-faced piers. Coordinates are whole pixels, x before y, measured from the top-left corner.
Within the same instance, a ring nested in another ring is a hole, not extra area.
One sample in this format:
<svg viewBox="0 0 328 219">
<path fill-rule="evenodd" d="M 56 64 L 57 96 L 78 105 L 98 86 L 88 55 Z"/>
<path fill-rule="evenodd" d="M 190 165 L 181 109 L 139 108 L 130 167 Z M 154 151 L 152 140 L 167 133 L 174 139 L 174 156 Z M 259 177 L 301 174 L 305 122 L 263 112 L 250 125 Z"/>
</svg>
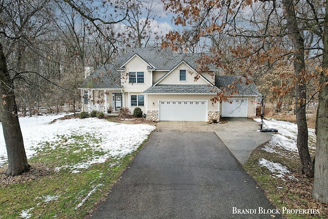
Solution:
<svg viewBox="0 0 328 219">
<path fill-rule="evenodd" d="M 159 121 L 206 121 L 207 101 L 159 101 Z"/>
</svg>

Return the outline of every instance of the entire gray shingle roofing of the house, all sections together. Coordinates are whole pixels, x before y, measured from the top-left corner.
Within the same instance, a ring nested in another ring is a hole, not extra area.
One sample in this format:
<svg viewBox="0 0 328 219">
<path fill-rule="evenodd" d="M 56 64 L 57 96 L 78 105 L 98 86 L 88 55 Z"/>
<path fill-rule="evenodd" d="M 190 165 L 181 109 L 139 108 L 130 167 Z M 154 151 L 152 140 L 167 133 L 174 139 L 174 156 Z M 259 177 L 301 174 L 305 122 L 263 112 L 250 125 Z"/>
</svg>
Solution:
<svg viewBox="0 0 328 219">
<path fill-rule="evenodd" d="M 195 61 L 201 57 L 201 54 L 175 54 L 172 51 L 159 50 L 159 48 L 135 48 L 130 49 L 127 55 L 118 56 L 116 64 L 110 64 L 103 68 L 95 70 L 91 75 L 87 77 L 85 82 L 81 85 L 81 88 L 94 88 L 94 89 L 120 89 L 121 78 L 120 72 L 117 71 L 122 65 L 124 65 L 135 54 L 140 56 L 150 68 L 154 67 L 157 70 L 171 70 L 181 61 L 185 61 L 195 70 L 197 69 L 197 63 Z M 216 69 L 214 65 L 208 66 L 209 69 Z M 152 86 L 144 93 L 209 93 L 215 94 L 218 91 L 212 91 L 214 88 L 226 88 L 228 85 L 237 81 L 240 76 L 235 75 L 219 75 L 215 76 L 215 86 L 209 87 L 207 85 L 156 85 Z M 245 79 L 242 78 L 245 82 Z M 257 95 L 258 90 L 254 83 L 246 85 L 245 83 L 236 84 L 239 95 Z"/>
</svg>

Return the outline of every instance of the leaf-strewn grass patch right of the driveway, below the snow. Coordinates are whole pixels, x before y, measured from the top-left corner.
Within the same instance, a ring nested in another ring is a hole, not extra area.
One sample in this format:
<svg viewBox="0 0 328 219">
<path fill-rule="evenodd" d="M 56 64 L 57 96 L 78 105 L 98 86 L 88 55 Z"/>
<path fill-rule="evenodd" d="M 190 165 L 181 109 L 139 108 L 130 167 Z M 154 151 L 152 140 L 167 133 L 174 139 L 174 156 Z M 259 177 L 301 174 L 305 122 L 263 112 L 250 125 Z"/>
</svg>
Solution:
<svg viewBox="0 0 328 219">
<path fill-rule="evenodd" d="M 291 157 L 296 156 L 291 155 Z M 320 211 L 320 214 L 284 214 L 286 218 L 328 218 L 328 206 L 314 201 L 311 196 L 313 179 L 306 178 L 300 172 L 299 158 L 291 157 L 283 157 L 277 153 L 263 151 L 260 146 L 253 151 L 243 168 L 257 181 L 269 200 L 281 212 L 283 207 L 287 209 L 317 209 Z M 260 158 L 288 167 L 297 180 L 291 180 L 288 177 L 274 177 L 266 167 L 259 166 L 258 160 Z"/>
</svg>

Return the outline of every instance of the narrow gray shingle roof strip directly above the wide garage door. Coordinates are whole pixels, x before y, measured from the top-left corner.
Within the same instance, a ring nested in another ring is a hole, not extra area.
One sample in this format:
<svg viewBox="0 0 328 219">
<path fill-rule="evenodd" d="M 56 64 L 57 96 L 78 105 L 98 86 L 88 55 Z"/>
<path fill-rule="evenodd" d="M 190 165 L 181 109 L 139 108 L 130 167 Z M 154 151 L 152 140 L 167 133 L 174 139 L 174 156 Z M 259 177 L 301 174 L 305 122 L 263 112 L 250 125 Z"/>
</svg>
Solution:
<svg viewBox="0 0 328 219">
<path fill-rule="evenodd" d="M 143 93 L 203 93 L 216 94 L 214 86 L 207 85 L 156 85 L 145 90 Z"/>
</svg>

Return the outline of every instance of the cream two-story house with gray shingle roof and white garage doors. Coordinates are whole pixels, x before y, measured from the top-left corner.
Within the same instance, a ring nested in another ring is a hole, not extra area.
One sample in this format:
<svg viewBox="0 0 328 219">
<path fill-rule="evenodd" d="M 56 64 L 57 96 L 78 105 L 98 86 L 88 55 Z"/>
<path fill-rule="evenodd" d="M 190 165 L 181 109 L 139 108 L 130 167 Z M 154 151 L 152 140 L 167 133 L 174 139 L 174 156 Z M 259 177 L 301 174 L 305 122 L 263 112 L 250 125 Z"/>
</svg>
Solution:
<svg viewBox="0 0 328 219">
<path fill-rule="evenodd" d="M 219 88 L 228 86 L 238 76 L 217 75 L 214 65 L 197 72 L 199 57 L 200 54 L 137 48 L 102 69 L 86 67 L 86 81 L 80 88 L 83 111 L 106 113 L 109 107 L 113 111 L 127 107 L 133 112 L 139 107 L 152 121 L 254 116 L 258 95 L 255 85 L 238 84 L 239 93 L 232 95 L 229 102 L 214 103 L 211 98 Z"/>
</svg>

